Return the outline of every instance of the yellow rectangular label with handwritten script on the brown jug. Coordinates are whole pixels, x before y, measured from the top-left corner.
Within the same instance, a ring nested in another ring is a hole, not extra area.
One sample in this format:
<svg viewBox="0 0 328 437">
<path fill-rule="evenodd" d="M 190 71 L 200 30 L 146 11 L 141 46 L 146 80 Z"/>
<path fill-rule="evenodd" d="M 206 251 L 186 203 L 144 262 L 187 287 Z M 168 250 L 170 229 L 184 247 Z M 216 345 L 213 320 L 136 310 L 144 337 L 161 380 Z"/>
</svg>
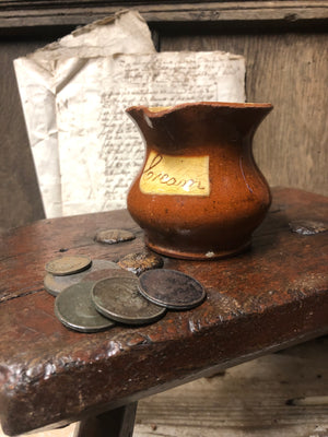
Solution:
<svg viewBox="0 0 328 437">
<path fill-rule="evenodd" d="M 152 151 L 140 190 L 145 194 L 210 196 L 209 156 L 172 156 Z"/>
</svg>

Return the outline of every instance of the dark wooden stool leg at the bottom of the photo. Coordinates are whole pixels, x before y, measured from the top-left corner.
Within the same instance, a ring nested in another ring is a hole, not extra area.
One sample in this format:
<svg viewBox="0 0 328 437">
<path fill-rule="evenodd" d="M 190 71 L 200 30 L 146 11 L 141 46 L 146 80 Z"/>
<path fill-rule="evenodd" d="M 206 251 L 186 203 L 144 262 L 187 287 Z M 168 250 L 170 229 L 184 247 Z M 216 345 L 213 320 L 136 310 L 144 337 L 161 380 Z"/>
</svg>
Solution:
<svg viewBox="0 0 328 437">
<path fill-rule="evenodd" d="M 80 422 L 74 437 L 132 437 L 138 402 Z"/>
</svg>

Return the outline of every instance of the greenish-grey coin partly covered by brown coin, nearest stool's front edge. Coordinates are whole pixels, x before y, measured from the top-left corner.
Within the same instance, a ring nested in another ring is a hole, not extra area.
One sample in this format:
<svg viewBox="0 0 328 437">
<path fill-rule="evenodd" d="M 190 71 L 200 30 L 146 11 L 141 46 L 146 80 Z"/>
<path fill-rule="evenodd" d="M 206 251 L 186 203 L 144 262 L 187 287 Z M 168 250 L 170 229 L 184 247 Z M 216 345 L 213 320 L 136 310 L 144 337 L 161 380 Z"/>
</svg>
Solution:
<svg viewBox="0 0 328 437">
<path fill-rule="evenodd" d="M 55 315 L 67 328 L 97 332 L 115 326 L 96 311 L 91 299 L 93 282 L 80 282 L 66 288 L 55 300 Z"/>
</svg>

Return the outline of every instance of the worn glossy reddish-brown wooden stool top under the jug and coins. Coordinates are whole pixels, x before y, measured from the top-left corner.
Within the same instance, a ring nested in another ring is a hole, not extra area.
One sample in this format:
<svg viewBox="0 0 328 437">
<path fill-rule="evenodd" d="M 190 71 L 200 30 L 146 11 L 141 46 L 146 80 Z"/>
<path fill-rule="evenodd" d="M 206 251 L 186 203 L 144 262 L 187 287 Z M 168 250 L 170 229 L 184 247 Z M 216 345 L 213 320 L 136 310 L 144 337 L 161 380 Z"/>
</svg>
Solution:
<svg viewBox="0 0 328 437">
<path fill-rule="evenodd" d="M 301 236 L 295 220 L 325 221 L 328 199 L 276 189 L 253 249 L 222 261 L 164 259 L 191 274 L 208 298 L 142 328 L 82 334 L 54 316 L 44 265 L 60 250 L 118 261 L 143 248 L 124 211 L 36 222 L 9 231 L 0 253 L 0 417 L 14 435 L 81 420 L 328 331 L 328 234 Z M 107 247 L 99 228 L 137 239 Z"/>
</svg>

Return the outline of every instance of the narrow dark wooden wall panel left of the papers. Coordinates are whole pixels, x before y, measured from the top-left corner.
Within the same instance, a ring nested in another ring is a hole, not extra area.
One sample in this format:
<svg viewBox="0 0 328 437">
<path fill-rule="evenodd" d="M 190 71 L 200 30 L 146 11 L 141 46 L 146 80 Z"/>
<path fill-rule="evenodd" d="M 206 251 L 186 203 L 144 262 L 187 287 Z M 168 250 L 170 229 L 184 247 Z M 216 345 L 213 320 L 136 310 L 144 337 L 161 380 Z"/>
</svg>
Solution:
<svg viewBox="0 0 328 437">
<path fill-rule="evenodd" d="M 12 61 L 39 43 L 0 42 L 0 228 L 43 217 Z"/>
</svg>

